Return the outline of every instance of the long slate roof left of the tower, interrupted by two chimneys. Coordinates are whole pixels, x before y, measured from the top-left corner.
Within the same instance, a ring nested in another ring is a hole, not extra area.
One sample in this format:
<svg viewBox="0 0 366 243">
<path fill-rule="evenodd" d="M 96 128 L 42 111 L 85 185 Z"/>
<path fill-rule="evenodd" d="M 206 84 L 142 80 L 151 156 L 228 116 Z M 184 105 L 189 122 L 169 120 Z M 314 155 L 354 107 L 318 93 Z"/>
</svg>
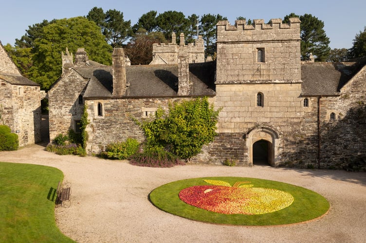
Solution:
<svg viewBox="0 0 366 243">
<path fill-rule="evenodd" d="M 215 95 L 215 62 L 189 64 L 192 96 Z M 90 79 L 84 98 L 112 96 L 112 67 L 74 68 L 82 77 Z M 135 65 L 126 67 L 129 83 L 125 97 L 178 96 L 178 65 Z"/>
</svg>

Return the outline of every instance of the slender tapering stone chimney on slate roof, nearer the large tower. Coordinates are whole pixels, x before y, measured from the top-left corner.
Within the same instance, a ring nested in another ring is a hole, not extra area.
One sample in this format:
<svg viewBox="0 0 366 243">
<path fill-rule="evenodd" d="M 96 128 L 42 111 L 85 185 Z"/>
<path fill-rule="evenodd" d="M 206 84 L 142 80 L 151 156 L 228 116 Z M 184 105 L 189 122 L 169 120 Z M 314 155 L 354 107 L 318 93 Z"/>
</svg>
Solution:
<svg viewBox="0 0 366 243">
<path fill-rule="evenodd" d="M 178 53 L 178 95 L 189 95 L 191 82 L 189 80 L 189 59 L 188 53 L 179 50 Z"/>
</svg>

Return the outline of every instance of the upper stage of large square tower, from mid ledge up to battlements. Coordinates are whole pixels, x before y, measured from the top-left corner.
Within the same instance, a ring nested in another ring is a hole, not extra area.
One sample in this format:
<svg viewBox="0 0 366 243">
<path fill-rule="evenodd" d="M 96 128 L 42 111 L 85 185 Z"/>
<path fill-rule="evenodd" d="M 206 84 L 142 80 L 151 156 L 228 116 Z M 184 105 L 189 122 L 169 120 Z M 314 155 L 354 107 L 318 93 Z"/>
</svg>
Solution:
<svg viewBox="0 0 366 243">
<path fill-rule="evenodd" d="M 218 22 L 216 84 L 299 81 L 299 18 L 290 18 L 288 24 L 280 18 L 271 19 L 269 24 L 263 19 L 253 22 Z"/>
</svg>

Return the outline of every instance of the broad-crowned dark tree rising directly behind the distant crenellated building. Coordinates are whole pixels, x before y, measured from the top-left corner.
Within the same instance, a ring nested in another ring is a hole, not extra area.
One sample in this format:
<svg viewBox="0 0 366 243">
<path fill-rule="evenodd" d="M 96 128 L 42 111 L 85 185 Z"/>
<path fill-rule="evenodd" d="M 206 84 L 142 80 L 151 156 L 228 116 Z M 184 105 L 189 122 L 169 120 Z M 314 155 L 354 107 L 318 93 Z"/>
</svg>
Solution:
<svg viewBox="0 0 366 243">
<path fill-rule="evenodd" d="M 158 31 L 164 34 L 165 39 L 171 40 L 172 33 L 177 34 L 177 41 L 179 40 L 179 35 L 184 33 L 187 34 L 187 29 L 189 26 L 188 19 L 185 18 L 182 12 L 177 11 L 165 11 L 156 17 L 156 23 L 158 25 Z"/>
</svg>

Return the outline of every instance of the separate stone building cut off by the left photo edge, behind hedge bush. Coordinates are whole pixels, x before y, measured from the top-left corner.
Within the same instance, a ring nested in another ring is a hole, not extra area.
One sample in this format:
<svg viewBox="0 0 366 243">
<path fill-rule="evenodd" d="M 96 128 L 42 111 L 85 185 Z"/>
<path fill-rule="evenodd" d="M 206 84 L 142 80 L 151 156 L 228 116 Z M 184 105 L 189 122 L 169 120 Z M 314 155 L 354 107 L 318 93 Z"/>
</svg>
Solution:
<svg viewBox="0 0 366 243">
<path fill-rule="evenodd" d="M 0 124 L 18 134 L 19 146 L 41 140 L 40 86 L 23 77 L 0 42 Z"/>
</svg>

